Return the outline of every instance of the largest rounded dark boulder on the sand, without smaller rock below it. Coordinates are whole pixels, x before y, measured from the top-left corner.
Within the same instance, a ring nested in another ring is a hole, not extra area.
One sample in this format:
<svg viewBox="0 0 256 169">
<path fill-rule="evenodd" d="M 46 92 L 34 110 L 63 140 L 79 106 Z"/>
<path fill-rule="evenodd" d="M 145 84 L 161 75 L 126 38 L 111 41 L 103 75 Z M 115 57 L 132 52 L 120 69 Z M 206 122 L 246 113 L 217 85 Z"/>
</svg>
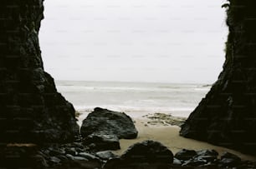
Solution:
<svg viewBox="0 0 256 169">
<path fill-rule="evenodd" d="M 115 135 L 118 138 L 125 139 L 136 138 L 138 135 L 131 117 L 124 112 L 113 112 L 100 107 L 96 107 L 84 119 L 80 132 L 82 137 L 87 137 L 95 132 Z"/>
</svg>

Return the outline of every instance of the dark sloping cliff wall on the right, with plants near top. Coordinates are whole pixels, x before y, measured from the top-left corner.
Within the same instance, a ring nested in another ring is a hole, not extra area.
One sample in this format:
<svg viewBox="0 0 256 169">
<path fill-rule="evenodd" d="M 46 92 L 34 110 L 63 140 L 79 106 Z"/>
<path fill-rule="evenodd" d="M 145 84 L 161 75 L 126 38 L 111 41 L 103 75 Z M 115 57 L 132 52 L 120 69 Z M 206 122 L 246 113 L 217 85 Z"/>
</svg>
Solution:
<svg viewBox="0 0 256 169">
<path fill-rule="evenodd" d="M 256 1 L 228 2 L 223 72 L 180 134 L 256 154 Z"/>
</svg>

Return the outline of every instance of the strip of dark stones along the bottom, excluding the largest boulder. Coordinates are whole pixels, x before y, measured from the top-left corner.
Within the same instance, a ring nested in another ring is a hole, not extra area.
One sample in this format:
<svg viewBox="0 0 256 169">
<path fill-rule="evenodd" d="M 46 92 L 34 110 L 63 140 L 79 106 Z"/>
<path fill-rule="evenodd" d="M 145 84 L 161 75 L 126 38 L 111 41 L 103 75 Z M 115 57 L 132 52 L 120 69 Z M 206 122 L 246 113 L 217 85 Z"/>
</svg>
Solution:
<svg viewBox="0 0 256 169">
<path fill-rule="evenodd" d="M 186 150 L 172 154 L 160 142 L 136 143 L 121 156 L 110 151 L 91 152 L 82 142 L 68 144 L 8 145 L 0 151 L 1 168 L 256 168 L 232 153 Z"/>
</svg>

